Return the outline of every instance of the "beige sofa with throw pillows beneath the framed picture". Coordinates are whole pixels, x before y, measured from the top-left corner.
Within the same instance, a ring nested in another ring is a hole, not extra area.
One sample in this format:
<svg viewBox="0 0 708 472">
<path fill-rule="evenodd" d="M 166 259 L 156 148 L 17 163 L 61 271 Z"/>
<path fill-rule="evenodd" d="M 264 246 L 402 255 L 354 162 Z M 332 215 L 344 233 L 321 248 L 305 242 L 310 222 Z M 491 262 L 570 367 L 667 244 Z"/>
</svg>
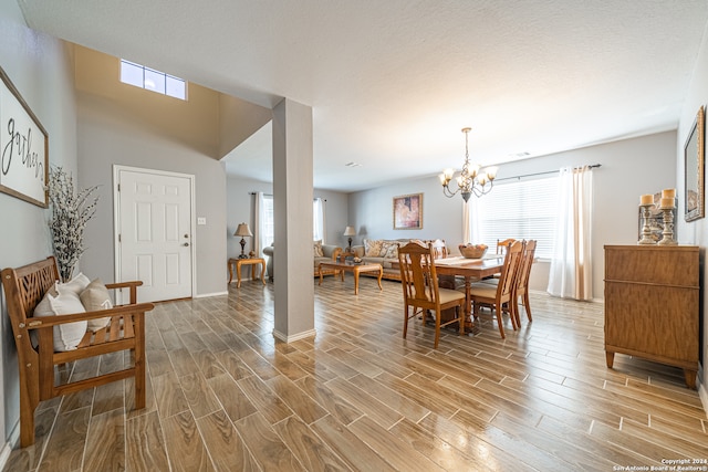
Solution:
<svg viewBox="0 0 708 472">
<path fill-rule="evenodd" d="M 376 263 L 384 268 L 383 279 L 400 282 L 400 269 L 398 268 L 398 244 L 405 245 L 410 241 L 421 242 L 424 245 L 433 243 L 436 259 L 447 258 L 448 249 L 445 240 L 419 240 L 419 239 L 394 239 L 394 240 L 373 240 L 364 239 L 361 245 L 353 245 L 351 253 L 361 258 L 364 263 Z M 347 255 L 344 253 L 344 255 Z M 373 272 L 362 272 L 362 275 L 378 276 Z"/>
</svg>

